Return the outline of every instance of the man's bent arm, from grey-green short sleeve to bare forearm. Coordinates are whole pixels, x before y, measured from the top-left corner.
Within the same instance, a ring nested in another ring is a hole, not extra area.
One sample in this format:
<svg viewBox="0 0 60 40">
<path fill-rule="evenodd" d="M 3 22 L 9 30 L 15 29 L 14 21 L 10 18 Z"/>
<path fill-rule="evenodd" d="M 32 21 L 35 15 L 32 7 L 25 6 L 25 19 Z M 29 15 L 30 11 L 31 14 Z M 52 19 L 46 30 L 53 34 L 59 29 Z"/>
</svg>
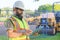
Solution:
<svg viewBox="0 0 60 40">
<path fill-rule="evenodd" d="M 5 22 L 6 28 L 7 28 L 7 32 L 8 32 L 8 36 L 9 37 L 18 37 L 21 36 L 22 33 L 17 33 L 17 32 L 13 32 L 13 24 L 11 23 L 10 20 L 7 20 Z"/>
</svg>

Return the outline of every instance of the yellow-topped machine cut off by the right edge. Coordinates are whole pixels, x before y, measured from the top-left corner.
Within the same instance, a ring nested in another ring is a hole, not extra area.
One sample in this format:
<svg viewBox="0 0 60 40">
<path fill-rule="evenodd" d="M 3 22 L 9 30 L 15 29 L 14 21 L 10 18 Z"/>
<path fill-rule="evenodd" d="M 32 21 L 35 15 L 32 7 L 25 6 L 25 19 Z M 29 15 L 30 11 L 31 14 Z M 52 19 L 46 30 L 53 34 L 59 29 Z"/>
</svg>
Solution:
<svg viewBox="0 0 60 40">
<path fill-rule="evenodd" d="M 57 31 L 60 31 L 60 2 L 55 2 L 53 4 L 53 12 L 56 18 Z"/>
</svg>

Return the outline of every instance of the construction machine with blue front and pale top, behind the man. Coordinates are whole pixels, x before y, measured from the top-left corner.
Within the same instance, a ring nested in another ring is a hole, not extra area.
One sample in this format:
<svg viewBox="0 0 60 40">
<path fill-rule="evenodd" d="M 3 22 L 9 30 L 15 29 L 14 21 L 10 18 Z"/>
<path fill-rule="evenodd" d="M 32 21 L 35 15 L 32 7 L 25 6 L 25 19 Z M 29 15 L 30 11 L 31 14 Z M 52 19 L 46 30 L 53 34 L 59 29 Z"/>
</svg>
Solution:
<svg viewBox="0 0 60 40">
<path fill-rule="evenodd" d="M 41 14 L 39 20 L 40 23 L 36 27 L 39 29 L 38 33 L 50 35 L 56 34 L 56 20 L 53 13 Z"/>
</svg>

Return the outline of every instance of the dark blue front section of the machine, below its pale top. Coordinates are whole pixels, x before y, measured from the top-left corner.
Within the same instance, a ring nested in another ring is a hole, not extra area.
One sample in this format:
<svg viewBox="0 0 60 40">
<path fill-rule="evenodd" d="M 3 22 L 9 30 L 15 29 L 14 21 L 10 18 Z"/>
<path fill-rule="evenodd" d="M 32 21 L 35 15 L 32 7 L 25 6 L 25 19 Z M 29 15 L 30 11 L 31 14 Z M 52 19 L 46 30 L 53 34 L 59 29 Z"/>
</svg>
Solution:
<svg viewBox="0 0 60 40">
<path fill-rule="evenodd" d="M 51 25 L 51 23 L 48 21 L 48 18 L 41 18 L 40 19 L 40 25 L 38 26 L 39 34 L 48 34 L 48 35 L 54 35 L 56 34 L 55 27 Z"/>
</svg>

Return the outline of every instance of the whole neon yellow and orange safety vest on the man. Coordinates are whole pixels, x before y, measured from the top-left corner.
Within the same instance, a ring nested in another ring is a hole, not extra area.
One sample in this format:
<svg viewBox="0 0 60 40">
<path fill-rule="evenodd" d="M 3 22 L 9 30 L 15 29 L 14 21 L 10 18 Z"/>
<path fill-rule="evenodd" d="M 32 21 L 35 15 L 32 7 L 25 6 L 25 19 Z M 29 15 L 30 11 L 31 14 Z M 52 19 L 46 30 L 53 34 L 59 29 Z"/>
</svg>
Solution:
<svg viewBox="0 0 60 40">
<path fill-rule="evenodd" d="M 13 23 L 13 30 L 17 31 L 17 30 L 24 30 L 24 29 L 29 29 L 26 21 L 24 19 L 22 19 L 22 21 L 20 19 L 18 19 L 17 17 L 11 17 L 10 20 Z M 17 27 L 18 28 L 17 28 Z M 29 39 L 29 37 L 26 38 L 26 35 L 22 35 L 21 37 L 16 37 L 16 38 L 10 38 L 9 40 L 26 40 Z"/>
</svg>

